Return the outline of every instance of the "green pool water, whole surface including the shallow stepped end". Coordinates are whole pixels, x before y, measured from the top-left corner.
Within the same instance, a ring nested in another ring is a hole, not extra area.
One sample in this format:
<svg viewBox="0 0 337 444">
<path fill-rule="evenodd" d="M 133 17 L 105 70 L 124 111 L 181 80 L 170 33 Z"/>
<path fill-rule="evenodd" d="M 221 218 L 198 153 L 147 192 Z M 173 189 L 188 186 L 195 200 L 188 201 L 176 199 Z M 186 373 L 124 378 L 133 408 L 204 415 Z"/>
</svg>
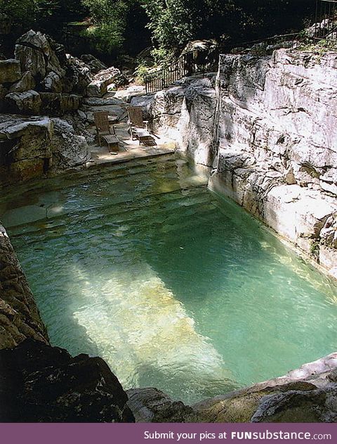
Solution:
<svg viewBox="0 0 337 444">
<path fill-rule="evenodd" d="M 337 350 L 337 295 L 166 156 L 18 187 L 1 216 L 53 345 L 184 402 Z"/>
</svg>

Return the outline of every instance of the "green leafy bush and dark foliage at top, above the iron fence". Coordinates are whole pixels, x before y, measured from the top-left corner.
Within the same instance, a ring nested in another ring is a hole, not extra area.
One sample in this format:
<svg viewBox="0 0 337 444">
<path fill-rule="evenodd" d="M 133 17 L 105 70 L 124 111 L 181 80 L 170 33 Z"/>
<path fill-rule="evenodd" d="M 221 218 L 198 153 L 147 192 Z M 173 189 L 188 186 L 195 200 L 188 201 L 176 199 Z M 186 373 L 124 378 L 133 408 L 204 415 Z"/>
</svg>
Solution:
<svg viewBox="0 0 337 444">
<path fill-rule="evenodd" d="M 181 49 L 194 39 L 236 42 L 298 29 L 315 0 L 143 0 L 148 27 L 160 49 Z"/>
</svg>

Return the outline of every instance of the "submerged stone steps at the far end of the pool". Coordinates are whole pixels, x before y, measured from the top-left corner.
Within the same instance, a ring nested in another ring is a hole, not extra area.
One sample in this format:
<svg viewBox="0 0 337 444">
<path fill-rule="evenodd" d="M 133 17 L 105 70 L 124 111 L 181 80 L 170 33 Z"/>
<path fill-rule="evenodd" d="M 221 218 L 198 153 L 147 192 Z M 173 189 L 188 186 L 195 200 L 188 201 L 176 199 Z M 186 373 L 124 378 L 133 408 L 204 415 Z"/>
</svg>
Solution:
<svg viewBox="0 0 337 444">
<path fill-rule="evenodd" d="M 84 223 L 110 215 L 118 215 L 122 221 L 124 213 L 129 212 L 132 215 L 143 208 L 149 210 L 159 202 L 162 206 L 163 200 L 172 201 L 172 208 L 175 205 L 187 206 L 207 201 L 208 177 L 195 175 L 177 180 L 177 163 L 180 167 L 185 167 L 186 164 L 177 159 L 135 162 L 130 168 L 125 165 L 112 167 L 102 175 L 79 175 L 77 182 L 73 184 L 71 181 L 70 186 L 67 186 L 68 178 L 63 178 L 62 187 L 59 181 L 51 182 L 52 190 L 42 198 L 41 189 L 33 187 L 27 196 L 27 203 L 30 201 L 32 204 L 8 209 L 3 214 L 3 220 L 11 229 L 11 235 L 15 236 L 41 229 L 53 230 L 66 224 L 63 219 L 74 215 Z M 161 179 L 163 174 L 164 181 Z M 97 190 L 96 182 L 100 183 Z M 76 201 L 72 198 L 75 187 L 81 189 L 81 197 Z M 60 193 L 65 194 L 65 197 L 60 199 Z M 174 201 L 181 202 L 176 204 Z M 169 204 L 166 207 L 167 205 Z M 101 213 L 103 209 L 104 212 Z M 25 227 L 21 227 L 22 225 Z"/>
</svg>

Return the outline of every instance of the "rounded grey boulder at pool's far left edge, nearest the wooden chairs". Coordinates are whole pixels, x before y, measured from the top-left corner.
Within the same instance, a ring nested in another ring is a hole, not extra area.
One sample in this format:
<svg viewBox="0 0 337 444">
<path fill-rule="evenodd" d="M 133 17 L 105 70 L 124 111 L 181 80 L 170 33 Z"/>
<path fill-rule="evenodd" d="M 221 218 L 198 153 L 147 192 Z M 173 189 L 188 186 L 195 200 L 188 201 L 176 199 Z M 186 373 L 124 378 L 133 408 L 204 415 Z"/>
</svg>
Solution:
<svg viewBox="0 0 337 444">
<path fill-rule="evenodd" d="M 78 136 L 74 127 L 65 120 L 53 118 L 53 151 L 52 172 L 60 172 L 69 168 L 79 167 L 90 160 L 86 138 Z"/>
</svg>

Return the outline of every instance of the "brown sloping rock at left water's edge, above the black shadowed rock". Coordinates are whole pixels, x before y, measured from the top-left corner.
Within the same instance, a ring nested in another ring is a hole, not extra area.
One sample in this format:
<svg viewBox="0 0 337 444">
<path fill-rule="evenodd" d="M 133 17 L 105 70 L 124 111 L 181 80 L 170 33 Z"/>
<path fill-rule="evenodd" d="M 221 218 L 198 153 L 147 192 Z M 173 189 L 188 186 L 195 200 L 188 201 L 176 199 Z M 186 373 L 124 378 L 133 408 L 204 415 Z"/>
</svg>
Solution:
<svg viewBox="0 0 337 444">
<path fill-rule="evenodd" d="M 48 343 L 25 274 L 0 224 L 0 349 L 13 348 L 25 338 Z"/>
</svg>

